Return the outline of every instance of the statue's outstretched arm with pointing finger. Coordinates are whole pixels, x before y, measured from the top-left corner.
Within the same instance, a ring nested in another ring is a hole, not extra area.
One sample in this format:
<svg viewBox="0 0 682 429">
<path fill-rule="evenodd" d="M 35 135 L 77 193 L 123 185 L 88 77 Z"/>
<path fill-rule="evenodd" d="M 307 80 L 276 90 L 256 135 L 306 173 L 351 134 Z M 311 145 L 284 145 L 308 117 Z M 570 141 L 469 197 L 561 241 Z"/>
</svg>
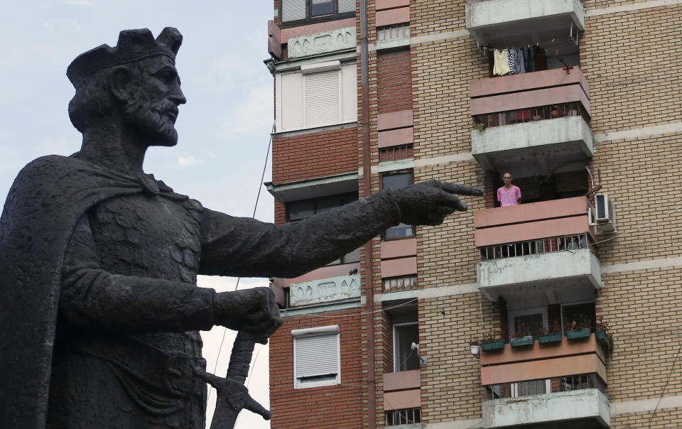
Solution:
<svg viewBox="0 0 682 429">
<path fill-rule="evenodd" d="M 276 227 L 205 210 L 200 273 L 296 277 L 338 259 L 399 222 L 435 225 L 467 205 L 468 186 L 427 180 L 381 191 L 334 210 Z"/>
</svg>

